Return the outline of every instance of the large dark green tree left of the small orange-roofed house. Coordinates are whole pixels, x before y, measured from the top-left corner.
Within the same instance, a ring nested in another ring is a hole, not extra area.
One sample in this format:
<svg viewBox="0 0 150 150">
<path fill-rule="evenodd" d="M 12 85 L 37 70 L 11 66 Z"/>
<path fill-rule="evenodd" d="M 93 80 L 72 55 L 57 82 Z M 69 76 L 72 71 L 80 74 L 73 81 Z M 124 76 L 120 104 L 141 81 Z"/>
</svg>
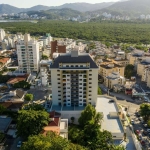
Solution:
<svg viewBox="0 0 150 150">
<path fill-rule="evenodd" d="M 48 125 L 49 120 L 46 111 L 21 110 L 18 112 L 17 135 L 24 138 L 37 135 Z"/>
</svg>

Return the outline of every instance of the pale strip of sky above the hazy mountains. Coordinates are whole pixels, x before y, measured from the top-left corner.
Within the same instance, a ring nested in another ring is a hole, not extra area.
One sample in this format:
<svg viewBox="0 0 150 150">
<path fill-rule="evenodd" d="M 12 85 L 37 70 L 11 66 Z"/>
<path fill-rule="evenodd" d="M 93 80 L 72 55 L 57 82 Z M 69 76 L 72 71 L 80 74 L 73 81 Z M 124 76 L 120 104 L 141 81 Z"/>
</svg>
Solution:
<svg viewBox="0 0 150 150">
<path fill-rule="evenodd" d="M 0 0 L 0 4 L 10 4 L 20 8 L 28 8 L 35 5 L 59 6 L 64 3 L 87 2 L 87 3 L 101 3 L 101 2 L 116 2 L 118 0 Z"/>
</svg>

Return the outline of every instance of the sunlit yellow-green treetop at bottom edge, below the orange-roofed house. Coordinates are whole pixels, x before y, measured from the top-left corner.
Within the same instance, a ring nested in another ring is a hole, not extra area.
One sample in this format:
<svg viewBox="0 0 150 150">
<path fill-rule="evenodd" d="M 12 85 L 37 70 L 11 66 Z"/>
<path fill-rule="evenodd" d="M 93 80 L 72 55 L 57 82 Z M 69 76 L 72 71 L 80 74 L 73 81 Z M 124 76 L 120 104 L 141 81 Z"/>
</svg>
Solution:
<svg viewBox="0 0 150 150">
<path fill-rule="evenodd" d="M 21 150 L 86 150 L 86 148 L 70 143 L 54 132 L 49 132 L 46 136 L 30 136 L 28 141 L 24 142 Z"/>
</svg>

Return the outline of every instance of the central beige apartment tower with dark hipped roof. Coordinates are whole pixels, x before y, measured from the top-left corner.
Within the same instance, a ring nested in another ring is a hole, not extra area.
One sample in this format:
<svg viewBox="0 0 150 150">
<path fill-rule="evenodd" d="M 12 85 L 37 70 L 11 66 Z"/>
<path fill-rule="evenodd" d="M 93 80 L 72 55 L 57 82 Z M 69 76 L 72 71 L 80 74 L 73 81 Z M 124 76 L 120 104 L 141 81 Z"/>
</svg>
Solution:
<svg viewBox="0 0 150 150">
<path fill-rule="evenodd" d="M 50 70 L 53 106 L 96 104 L 98 66 L 89 54 L 60 54 Z"/>
</svg>

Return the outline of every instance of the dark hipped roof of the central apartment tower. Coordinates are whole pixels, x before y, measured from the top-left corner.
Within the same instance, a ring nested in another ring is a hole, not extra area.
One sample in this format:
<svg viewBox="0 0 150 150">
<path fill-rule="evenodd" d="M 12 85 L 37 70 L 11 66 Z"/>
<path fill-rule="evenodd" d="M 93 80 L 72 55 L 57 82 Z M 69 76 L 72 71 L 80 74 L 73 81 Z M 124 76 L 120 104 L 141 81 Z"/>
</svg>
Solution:
<svg viewBox="0 0 150 150">
<path fill-rule="evenodd" d="M 71 54 L 60 54 L 54 60 L 53 64 L 51 65 L 51 68 L 59 68 L 59 63 L 90 63 L 90 68 L 98 68 L 96 63 L 88 54 L 79 54 L 77 57 L 71 57 Z"/>
</svg>

